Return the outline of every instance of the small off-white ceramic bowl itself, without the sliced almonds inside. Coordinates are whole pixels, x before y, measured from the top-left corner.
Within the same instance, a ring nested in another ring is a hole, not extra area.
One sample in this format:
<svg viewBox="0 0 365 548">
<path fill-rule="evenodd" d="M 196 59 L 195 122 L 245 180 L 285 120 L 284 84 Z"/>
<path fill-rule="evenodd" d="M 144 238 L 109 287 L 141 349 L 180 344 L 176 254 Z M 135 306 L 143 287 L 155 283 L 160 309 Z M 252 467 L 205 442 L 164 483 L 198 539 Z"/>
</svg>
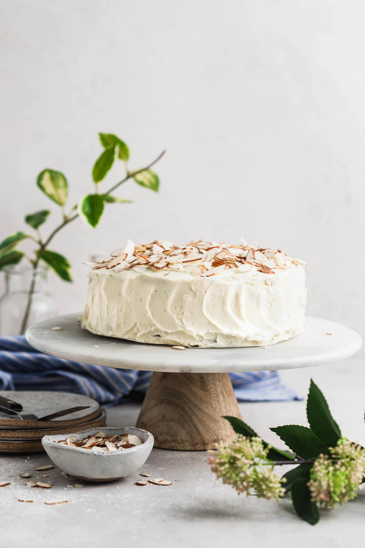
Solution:
<svg viewBox="0 0 365 548">
<path fill-rule="evenodd" d="M 76 436 L 78 441 L 86 436 L 96 433 L 105 433 L 106 436 L 121 436 L 122 434 L 135 434 L 140 437 L 142 443 L 123 451 L 112 453 L 94 452 L 81 447 L 68 447 L 54 443 L 68 436 Z M 53 463 L 61 470 L 84 481 L 113 481 L 113 479 L 129 476 L 140 468 L 152 451 L 154 438 L 147 430 L 126 426 L 124 428 L 92 428 L 84 432 L 74 434 L 58 434 L 57 436 L 44 436 L 42 445 Z"/>
</svg>

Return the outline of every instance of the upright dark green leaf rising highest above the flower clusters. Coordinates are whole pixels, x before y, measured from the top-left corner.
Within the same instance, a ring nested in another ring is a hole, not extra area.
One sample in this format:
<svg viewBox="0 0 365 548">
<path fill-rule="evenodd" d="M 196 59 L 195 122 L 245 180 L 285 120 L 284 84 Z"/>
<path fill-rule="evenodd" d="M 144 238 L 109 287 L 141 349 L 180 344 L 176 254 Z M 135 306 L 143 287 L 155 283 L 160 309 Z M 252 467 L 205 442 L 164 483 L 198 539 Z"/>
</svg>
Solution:
<svg viewBox="0 0 365 548">
<path fill-rule="evenodd" d="M 329 411 L 325 396 L 312 379 L 306 402 L 306 416 L 315 435 L 328 447 L 335 447 L 341 431 Z"/>
</svg>

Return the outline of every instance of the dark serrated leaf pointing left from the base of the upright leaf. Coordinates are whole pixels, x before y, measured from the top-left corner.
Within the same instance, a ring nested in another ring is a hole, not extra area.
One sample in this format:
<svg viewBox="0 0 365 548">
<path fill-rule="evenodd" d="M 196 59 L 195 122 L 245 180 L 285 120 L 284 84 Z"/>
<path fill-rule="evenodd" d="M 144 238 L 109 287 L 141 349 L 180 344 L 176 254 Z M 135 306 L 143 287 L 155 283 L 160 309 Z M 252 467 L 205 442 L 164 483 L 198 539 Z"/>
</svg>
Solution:
<svg viewBox="0 0 365 548">
<path fill-rule="evenodd" d="M 303 459 L 312 459 L 321 453 L 328 453 L 328 448 L 306 426 L 287 424 L 270 428 L 270 430 L 275 432 L 294 453 Z"/>
</svg>

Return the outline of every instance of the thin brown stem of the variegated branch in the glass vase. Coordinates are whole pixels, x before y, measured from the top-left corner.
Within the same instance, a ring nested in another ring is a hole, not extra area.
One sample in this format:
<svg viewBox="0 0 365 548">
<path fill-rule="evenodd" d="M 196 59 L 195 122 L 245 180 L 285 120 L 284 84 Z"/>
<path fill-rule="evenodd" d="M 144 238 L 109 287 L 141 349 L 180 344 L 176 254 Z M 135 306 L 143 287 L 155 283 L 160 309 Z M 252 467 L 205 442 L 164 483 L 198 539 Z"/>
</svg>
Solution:
<svg viewBox="0 0 365 548">
<path fill-rule="evenodd" d="M 134 175 L 137 175 L 138 173 L 142 173 L 146 169 L 151 168 L 154 164 L 156 164 L 164 156 L 165 152 L 166 151 L 163 150 L 161 152 L 161 154 L 157 158 L 155 158 L 152 162 L 150 162 L 148 165 L 146 165 L 146 167 L 141 168 L 141 169 L 137 169 L 135 172 L 127 172 L 124 179 L 117 182 L 116 185 L 112 186 L 111 189 L 109 189 L 107 192 L 103 193 L 101 196 L 107 196 L 108 194 L 113 192 L 115 189 L 117 189 L 118 186 L 120 186 L 124 182 L 128 181 L 128 179 L 131 179 Z M 73 210 L 76 209 L 76 208 L 77 208 L 77 206 L 75 206 L 73 208 Z M 21 327 L 20 327 L 20 335 L 24 334 L 25 330 L 26 330 L 26 326 L 27 326 L 27 322 L 28 322 L 28 318 L 29 318 L 29 314 L 30 314 L 30 310 L 31 310 L 31 306 L 32 306 L 34 288 L 36 287 L 36 269 L 38 267 L 40 259 L 42 258 L 42 253 L 44 252 L 45 248 L 47 248 L 48 244 L 51 242 L 51 240 L 54 238 L 54 236 L 56 236 L 57 232 L 59 232 L 61 229 L 63 229 L 63 227 L 68 225 L 70 222 L 77 219 L 78 216 L 79 216 L 79 214 L 76 213 L 72 217 L 66 217 L 65 219 L 63 219 L 61 224 L 59 226 L 57 226 L 50 233 L 50 235 L 48 236 L 48 238 L 44 242 L 37 242 L 37 243 L 39 243 L 39 249 L 36 252 L 36 259 L 33 261 L 32 282 L 31 282 L 31 285 L 30 285 L 30 288 L 29 288 L 29 291 L 28 291 L 27 304 L 26 304 L 24 316 L 23 316 L 23 319 L 22 319 L 22 322 L 21 322 Z"/>
</svg>

